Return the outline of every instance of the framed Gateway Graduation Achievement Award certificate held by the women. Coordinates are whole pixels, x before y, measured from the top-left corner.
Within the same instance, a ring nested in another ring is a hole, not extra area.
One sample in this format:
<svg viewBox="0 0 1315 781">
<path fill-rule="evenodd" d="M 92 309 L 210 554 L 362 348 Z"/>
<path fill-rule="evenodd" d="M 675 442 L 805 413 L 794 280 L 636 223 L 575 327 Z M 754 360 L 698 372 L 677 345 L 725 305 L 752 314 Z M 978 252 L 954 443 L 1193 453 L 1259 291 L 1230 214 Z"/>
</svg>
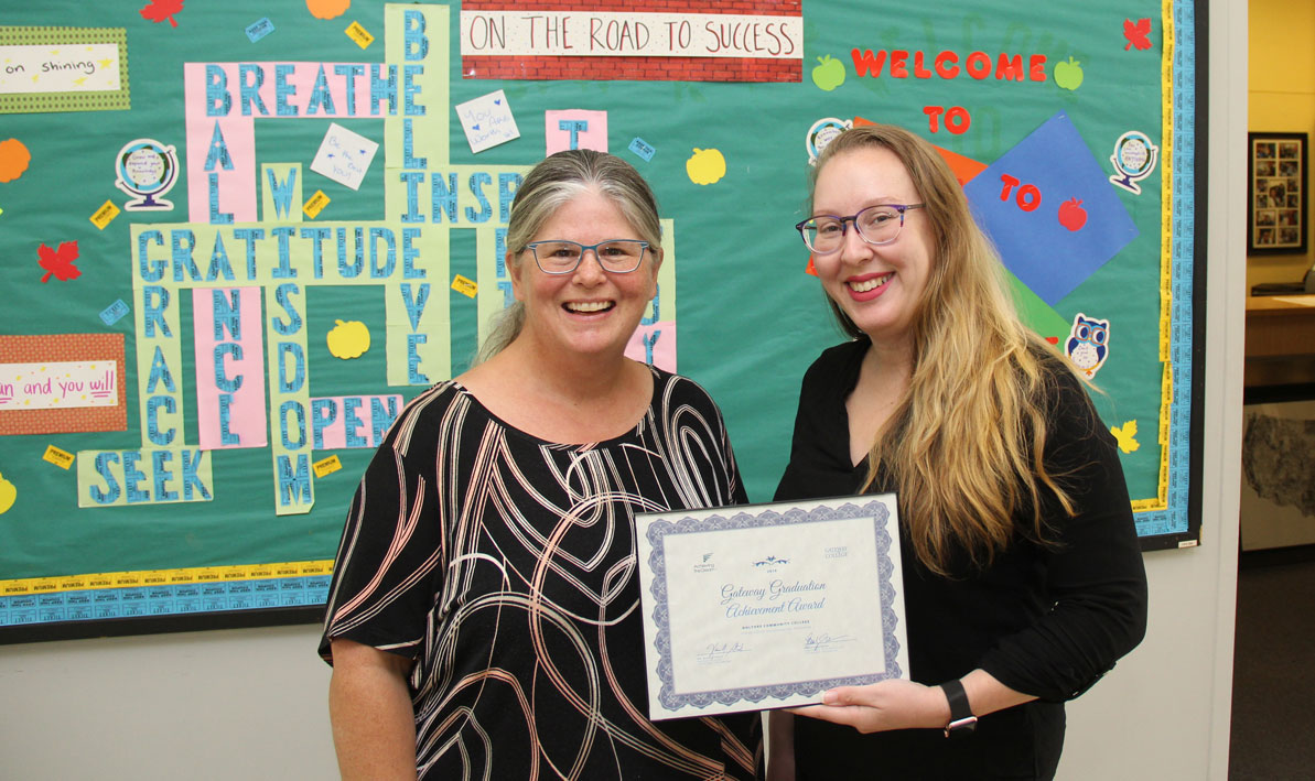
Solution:
<svg viewBox="0 0 1315 781">
<path fill-rule="evenodd" d="M 894 494 L 642 513 L 654 719 L 907 677 Z"/>
</svg>

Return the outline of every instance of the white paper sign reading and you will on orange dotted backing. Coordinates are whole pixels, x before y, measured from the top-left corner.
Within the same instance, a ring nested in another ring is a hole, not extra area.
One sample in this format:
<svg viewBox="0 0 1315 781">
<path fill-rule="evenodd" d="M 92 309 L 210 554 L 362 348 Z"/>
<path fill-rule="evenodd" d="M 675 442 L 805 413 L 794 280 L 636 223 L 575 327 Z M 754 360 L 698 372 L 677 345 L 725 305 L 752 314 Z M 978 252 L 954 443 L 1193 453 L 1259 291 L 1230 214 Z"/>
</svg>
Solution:
<svg viewBox="0 0 1315 781">
<path fill-rule="evenodd" d="M 0 363 L 0 410 L 117 404 L 118 364 L 113 360 Z"/>
</svg>

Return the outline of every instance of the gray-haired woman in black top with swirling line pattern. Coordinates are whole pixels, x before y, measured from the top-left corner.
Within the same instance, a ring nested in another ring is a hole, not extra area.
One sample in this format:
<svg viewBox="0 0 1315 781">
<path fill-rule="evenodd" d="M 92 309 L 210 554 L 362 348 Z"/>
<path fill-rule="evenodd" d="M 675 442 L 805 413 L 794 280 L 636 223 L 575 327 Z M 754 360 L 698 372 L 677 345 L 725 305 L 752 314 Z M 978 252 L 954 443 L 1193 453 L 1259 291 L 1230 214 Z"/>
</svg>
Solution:
<svg viewBox="0 0 1315 781">
<path fill-rule="evenodd" d="M 345 778 L 752 778 L 757 714 L 646 715 L 634 513 L 747 501 L 721 412 L 625 358 L 658 206 L 558 153 L 508 222 L 515 305 L 402 412 L 347 517 L 320 653 Z"/>
</svg>

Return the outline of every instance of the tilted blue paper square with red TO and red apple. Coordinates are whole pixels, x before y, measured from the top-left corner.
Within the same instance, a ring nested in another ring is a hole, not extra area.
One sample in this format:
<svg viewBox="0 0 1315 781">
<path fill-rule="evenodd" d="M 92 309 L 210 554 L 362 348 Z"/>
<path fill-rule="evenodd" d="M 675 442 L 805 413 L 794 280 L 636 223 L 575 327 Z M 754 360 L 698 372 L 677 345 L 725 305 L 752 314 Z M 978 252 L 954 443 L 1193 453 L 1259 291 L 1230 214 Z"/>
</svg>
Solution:
<svg viewBox="0 0 1315 781">
<path fill-rule="evenodd" d="M 1060 112 L 964 185 L 1001 259 L 1055 306 L 1137 237 L 1109 174 Z"/>
</svg>

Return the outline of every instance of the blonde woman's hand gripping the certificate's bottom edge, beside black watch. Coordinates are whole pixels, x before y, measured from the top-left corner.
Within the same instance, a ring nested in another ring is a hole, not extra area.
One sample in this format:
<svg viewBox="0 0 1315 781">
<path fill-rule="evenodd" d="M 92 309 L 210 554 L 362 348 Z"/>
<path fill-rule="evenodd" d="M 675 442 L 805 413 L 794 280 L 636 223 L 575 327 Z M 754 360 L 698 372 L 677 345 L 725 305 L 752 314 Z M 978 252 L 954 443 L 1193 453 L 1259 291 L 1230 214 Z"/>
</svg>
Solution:
<svg viewBox="0 0 1315 781">
<path fill-rule="evenodd" d="M 949 702 L 939 686 L 890 678 L 867 686 L 840 686 L 822 696 L 823 705 L 789 709 L 790 713 L 848 724 L 860 732 L 939 728 L 949 723 Z"/>
</svg>

